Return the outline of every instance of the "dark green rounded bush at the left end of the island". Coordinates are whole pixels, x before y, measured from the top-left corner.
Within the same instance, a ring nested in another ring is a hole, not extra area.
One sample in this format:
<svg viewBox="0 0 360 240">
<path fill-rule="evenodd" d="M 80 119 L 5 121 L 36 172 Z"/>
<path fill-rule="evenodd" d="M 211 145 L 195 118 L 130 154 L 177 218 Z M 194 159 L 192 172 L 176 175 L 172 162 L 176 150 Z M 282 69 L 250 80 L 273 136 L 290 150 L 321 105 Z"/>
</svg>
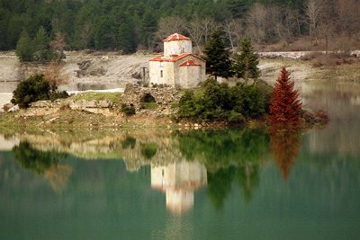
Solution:
<svg viewBox="0 0 360 240">
<path fill-rule="evenodd" d="M 56 100 L 66 98 L 67 92 L 53 92 L 49 82 L 44 79 L 43 75 L 31 76 L 17 85 L 14 90 L 11 102 L 18 104 L 20 108 L 27 108 L 31 102 L 40 100 Z"/>
</svg>

